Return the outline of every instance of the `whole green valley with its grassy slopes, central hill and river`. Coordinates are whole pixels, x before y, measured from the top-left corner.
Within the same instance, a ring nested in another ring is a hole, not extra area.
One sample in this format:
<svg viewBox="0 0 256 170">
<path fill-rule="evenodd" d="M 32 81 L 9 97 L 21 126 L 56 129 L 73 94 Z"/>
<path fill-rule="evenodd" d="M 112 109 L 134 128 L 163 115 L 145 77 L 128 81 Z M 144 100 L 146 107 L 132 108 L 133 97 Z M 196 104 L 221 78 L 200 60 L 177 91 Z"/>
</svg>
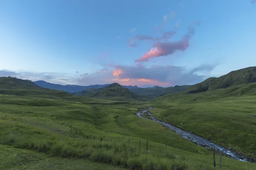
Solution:
<svg viewBox="0 0 256 170">
<path fill-rule="evenodd" d="M 218 150 L 226 155 L 221 169 L 255 170 L 256 82 L 246 76 L 251 73 L 224 75 L 221 79 L 236 82 L 229 87 L 201 92 L 198 87 L 206 89 L 202 82 L 157 97 L 117 83 L 73 95 L 0 77 L 1 155 L 14 150 L 17 155 L 1 159 L 24 168 L 47 159 L 60 162 L 52 163 L 54 169 L 76 162 L 77 169 L 212 170 L 215 148 L 216 160 Z M 40 163 L 41 169 L 49 168 L 49 162 Z M 18 167 L 0 164 L 0 169 L 8 168 Z"/>
</svg>

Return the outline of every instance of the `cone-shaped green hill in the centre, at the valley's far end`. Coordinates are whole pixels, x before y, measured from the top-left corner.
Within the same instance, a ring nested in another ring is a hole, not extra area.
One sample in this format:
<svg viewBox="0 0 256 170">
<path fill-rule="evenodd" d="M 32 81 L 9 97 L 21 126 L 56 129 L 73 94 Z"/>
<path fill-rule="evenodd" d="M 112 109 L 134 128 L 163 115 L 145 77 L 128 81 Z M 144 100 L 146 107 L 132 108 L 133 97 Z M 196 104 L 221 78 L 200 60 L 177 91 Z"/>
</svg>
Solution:
<svg viewBox="0 0 256 170">
<path fill-rule="evenodd" d="M 79 96 L 96 97 L 99 99 L 111 99 L 111 100 L 141 100 L 147 101 L 147 96 L 142 96 L 129 91 L 127 88 L 122 87 L 118 83 L 113 83 L 104 88 L 94 89 L 93 91 L 81 91 L 77 93 Z"/>
</svg>

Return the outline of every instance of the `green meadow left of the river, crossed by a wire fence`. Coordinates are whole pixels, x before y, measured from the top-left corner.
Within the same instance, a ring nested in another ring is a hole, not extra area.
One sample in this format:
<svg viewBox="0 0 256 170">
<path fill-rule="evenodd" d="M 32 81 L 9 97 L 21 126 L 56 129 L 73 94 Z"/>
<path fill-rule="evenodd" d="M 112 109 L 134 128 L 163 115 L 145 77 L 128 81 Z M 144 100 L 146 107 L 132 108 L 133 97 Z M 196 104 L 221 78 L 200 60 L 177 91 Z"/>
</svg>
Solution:
<svg viewBox="0 0 256 170">
<path fill-rule="evenodd" d="M 34 95 L 36 90 L 23 96 L 0 95 L 0 155 L 26 153 L 24 158 L 2 156 L 0 169 L 17 169 L 18 165 L 33 169 L 39 164 L 41 169 L 49 169 L 51 162 L 52 169 L 68 169 L 68 163 L 74 169 L 214 169 L 211 151 L 134 114 L 138 108 L 151 105 L 148 102 L 39 92 L 40 97 Z M 17 163 L 10 164 L 10 159 Z M 224 156 L 222 169 L 254 170 L 255 164 Z"/>
</svg>

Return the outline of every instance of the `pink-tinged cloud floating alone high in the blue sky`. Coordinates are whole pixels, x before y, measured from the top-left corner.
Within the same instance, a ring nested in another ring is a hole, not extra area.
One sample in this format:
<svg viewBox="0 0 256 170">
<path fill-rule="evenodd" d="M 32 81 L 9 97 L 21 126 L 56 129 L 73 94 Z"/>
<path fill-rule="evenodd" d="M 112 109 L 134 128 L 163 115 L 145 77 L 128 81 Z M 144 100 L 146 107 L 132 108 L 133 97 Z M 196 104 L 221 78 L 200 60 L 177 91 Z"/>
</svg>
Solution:
<svg viewBox="0 0 256 170">
<path fill-rule="evenodd" d="M 155 57 L 168 56 L 170 54 L 174 54 L 176 51 L 185 51 L 189 47 L 189 41 L 191 37 L 195 34 L 195 25 L 199 25 L 200 23 L 194 22 L 189 26 L 188 33 L 185 34 L 181 40 L 174 42 L 161 42 L 158 41 L 151 46 L 151 49 L 143 54 L 142 57 L 136 59 L 135 62 L 147 62 L 149 59 L 153 59 Z M 163 34 L 160 40 L 168 40 L 172 35 L 175 34 L 175 31 L 168 32 L 168 34 Z"/>
</svg>

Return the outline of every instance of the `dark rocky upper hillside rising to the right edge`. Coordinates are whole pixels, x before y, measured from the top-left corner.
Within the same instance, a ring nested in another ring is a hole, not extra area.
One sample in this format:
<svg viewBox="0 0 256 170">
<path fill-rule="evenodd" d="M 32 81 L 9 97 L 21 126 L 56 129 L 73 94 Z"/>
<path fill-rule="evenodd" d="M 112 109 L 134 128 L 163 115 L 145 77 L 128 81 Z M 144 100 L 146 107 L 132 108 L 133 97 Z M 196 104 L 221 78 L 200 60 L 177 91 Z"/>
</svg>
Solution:
<svg viewBox="0 0 256 170">
<path fill-rule="evenodd" d="M 256 67 L 243 68 L 231 71 L 229 74 L 215 78 L 206 79 L 204 82 L 193 85 L 186 90 L 186 93 L 195 94 L 208 90 L 216 90 L 219 88 L 228 88 L 234 85 L 241 85 L 250 82 L 256 82 Z"/>
</svg>

